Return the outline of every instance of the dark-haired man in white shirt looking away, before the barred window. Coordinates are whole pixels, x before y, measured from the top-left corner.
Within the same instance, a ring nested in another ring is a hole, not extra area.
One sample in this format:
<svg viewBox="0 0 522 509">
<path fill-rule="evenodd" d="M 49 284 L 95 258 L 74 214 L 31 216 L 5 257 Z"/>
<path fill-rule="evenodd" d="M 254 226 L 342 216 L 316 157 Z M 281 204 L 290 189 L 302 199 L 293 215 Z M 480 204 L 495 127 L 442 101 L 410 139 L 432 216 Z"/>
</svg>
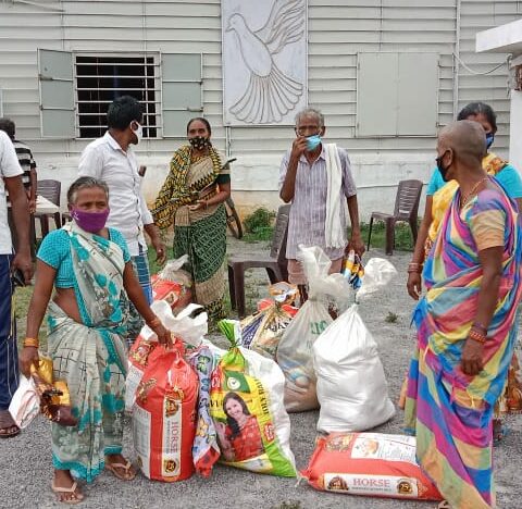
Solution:
<svg viewBox="0 0 522 509">
<path fill-rule="evenodd" d="M 144 229 L 150 237 L 159 263 L 165 261 L 166 252 L 145 202 L 138 161 L 130 148 L 141 139 L 141 107 L 135 98 L 122 96 L 113 101 L 107 112 L 109 131 L 83 151 L 79 176 L 94 176 L 109 186 L 110 213 L 107 226 L 119 229 L 125 237 L 139 284 L 151 303 L 152 287 Z M 134 340 L 134 334 L 139 333 L 140 327 L 140 321 L 137 323 L 138 313 L 133 310 L 132 314 L 136 323 L 129 326 L 129 342 Z"/>
</svg>

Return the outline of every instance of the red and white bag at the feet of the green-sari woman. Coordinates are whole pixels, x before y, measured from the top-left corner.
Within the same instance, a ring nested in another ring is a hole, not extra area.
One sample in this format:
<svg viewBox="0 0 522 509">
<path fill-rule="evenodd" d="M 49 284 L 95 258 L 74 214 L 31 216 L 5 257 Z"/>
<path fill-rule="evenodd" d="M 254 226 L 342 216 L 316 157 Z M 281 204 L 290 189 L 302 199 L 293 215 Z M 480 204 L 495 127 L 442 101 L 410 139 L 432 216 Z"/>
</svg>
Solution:
<svg viewBox="0 0 522 509">
<path fill-rule="evenodd" d="M 187 263 L 185 254 L 177 260 L 170 260 L 165 266 L 151 277 L 152 298 L 165 300 L 174 313 L 184 309 L 192 300 L 192 280 L 182 266 Z"/>
</svg>

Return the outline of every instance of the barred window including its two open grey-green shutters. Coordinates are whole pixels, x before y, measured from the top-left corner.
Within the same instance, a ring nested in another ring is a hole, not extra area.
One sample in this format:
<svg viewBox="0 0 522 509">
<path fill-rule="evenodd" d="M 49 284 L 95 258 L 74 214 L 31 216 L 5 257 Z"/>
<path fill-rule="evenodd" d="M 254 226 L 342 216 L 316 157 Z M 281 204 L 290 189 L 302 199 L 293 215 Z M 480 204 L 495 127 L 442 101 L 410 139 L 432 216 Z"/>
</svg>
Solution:
<svg viewBox="0 0 522 509">
<path fill-rule="evenodd" d="M 201 53 L 74 53 L 38 49 L 40 128 L 45 138 L 97 138 L 109 104 L 122 95 L 144 105 L 144 135 L 185 138 L 200 115 Z"/>
</svg>

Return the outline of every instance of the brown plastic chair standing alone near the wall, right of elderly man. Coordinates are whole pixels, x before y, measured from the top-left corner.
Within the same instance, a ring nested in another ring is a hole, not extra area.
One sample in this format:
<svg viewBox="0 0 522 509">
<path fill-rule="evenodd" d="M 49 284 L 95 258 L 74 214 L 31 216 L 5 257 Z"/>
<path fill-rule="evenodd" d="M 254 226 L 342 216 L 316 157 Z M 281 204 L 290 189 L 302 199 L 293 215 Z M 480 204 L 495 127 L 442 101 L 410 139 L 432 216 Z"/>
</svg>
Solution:
<svg viewBox="0 0 522 509">
<path fill-rule="evenodd" d="M 421 181 L 400 181 L 395 198 L 395 210 L 393 214 L 384 212 L 372 212 L 370 219 L 370 232 L 368 233 L 368 250 L 370 250 L 370 240 L 372 238 L 373 221 L 384 221 L 386 225 L 386 254 L 394 253 L 395 247 L 395 225 L 399 221 L 410 224 L 413 244 L 417 243 L 417 218 L 419 212 L 419 202 L 422 193 Z"/>
</svg>

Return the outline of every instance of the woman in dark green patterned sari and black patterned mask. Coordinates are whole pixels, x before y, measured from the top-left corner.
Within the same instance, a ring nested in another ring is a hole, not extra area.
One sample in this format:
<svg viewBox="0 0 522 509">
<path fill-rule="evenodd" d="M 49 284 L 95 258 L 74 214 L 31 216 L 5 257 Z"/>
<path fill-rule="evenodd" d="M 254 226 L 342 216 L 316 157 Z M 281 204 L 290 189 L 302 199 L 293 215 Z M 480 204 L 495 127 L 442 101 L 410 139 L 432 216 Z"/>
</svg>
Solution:
<svg viewBox="0 0 522 509">
<path fill-rule="evenodd" d="M 209 318 L 224 316 L 224 263 L 226 213 L 231 173 L 210 142 L 212 129 L 206 119 L 187 124 L 189 145 L 174 152 L 171 171 L 156 199 L 152 215 L 160 228 L 174 223 L 174 257 L 188 254 L 195 301 Z"/>
</svg>

